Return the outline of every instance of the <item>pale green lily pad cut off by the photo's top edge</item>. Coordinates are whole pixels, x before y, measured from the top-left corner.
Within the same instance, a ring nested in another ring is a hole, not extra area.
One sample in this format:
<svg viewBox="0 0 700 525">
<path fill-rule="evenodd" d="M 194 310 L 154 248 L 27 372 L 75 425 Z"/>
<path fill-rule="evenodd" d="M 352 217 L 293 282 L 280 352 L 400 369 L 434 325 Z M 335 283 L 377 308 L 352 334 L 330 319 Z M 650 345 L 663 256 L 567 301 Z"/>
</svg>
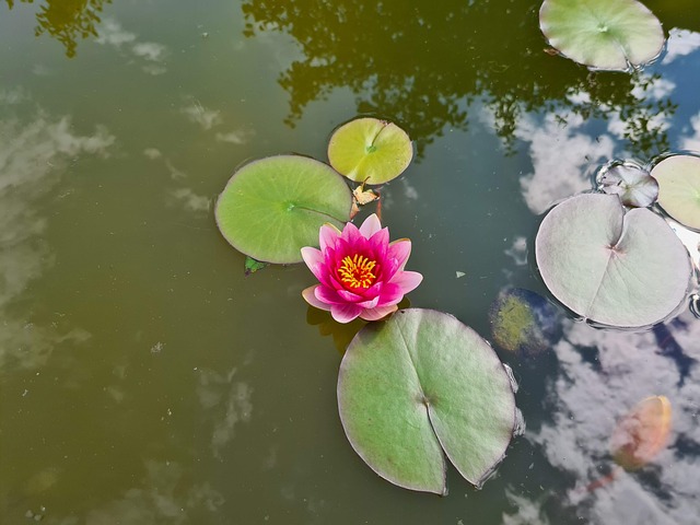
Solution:
<svg viewBox="0 0 700 525">
<path fill-rule="evenodd" d="M 545 0 L 539 27 L 562 55 L 603 70 L 643 66 L 664 46 L 658 19 L 637 0 Z"/>
</svg>

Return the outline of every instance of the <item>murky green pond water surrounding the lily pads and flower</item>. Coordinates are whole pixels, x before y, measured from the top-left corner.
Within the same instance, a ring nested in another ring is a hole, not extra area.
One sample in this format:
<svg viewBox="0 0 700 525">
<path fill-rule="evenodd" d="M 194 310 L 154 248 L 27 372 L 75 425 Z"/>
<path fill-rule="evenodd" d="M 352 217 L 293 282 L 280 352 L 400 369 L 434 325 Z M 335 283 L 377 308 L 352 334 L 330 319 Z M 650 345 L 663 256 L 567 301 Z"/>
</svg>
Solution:
<svg viewBox="0 0 700 525">
<path fill-rule="evenodd" d="M 646 3 L 669 39 L 634 75 L 545 52 L 539 3 L 1 2 L 2 523 L 697 523 L 688 308 L 638 332 L 562 313 L 537 355 L 497 347 L 526 431 L 481 490 L 451 468 L 439 498 L 345 436 L 358 324 L 307 307 L 304 265 L 245 277 L 213 221 L 242 163 L 325 160 L 338 125 L 392 119 L 416 148 L 381 205 L 424 276 L 411 306 L 492 339 L 500 292 L 547 295 L 542 212 L 609 160 L 700 151 L 695 1 Z M 673 407 L 668 446 L 594 489 L 616 421 L 652 395 Z"/>
</svg>

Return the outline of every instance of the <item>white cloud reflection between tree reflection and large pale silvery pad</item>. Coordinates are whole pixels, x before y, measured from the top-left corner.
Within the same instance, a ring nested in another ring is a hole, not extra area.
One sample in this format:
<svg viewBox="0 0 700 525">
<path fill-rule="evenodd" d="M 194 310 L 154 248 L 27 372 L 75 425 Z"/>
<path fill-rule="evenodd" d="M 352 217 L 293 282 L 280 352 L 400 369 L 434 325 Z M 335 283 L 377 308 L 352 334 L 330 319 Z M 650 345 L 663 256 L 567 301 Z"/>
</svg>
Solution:
<svg viewBox="0 0 700 525">
<path fill-rule="evenodd" d="M 583 124 L 579 115 L 567 115 L 562 120 L 553 113 L 547 114 L 541 124 L 532 116 L 518 122 L 515 136 L 530 143 L 534 173 L 521 178 L 521 188 L 533 213 L 542 213 L 558 200 L 591 189 L 586 165 L 612 156 L 610 137 L 594 140 L 578 132 Z"/>
</svg>

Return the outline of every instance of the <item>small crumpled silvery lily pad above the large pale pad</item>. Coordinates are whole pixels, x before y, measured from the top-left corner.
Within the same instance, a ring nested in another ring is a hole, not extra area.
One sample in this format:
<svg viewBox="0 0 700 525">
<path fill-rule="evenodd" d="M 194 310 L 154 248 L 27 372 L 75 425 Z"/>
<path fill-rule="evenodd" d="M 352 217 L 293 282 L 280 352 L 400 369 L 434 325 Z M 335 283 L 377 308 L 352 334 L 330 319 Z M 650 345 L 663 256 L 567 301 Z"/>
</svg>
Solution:
<svg viewBox="0 0 700 525">
<path fill-rule="evenodd" d="M 658 197 L 658 183 L 650 173 L 631 162 L 614 162 L 598 173 L 600 189 L 617 195 L 625 206 L 646 208 Z"/>
</svg>

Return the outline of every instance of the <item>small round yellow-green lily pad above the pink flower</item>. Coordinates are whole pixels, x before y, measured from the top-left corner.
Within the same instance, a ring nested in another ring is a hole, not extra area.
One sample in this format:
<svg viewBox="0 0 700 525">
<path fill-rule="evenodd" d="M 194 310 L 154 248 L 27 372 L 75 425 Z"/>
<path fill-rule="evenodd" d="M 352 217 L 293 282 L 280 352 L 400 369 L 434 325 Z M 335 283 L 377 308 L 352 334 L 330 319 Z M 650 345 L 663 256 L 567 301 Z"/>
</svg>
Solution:
<svg viewBox="0 0 700 525">
<path fill-rule="evenodd" d="M 328 161 L 350 180 L 384 184 L 398 177 L 413 158 L 406 131 L 376 118 L 358 118 L 330 137 Z"/>
</svg>

